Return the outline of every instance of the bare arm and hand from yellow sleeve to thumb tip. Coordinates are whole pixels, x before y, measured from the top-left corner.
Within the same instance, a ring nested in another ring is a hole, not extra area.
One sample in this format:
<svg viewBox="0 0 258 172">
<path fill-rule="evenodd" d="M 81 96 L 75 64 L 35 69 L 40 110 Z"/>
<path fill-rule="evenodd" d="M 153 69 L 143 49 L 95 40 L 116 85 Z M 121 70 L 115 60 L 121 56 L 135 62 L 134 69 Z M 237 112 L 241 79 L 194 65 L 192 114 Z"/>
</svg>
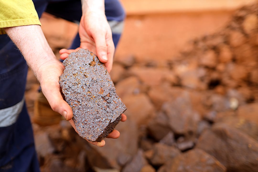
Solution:
<svg viewBox="0 0 258 172">
<path fill-rule="evenodd" d="M 39 80 L 51 108 L 65 119 L 72 118 L 70 106 L 60 93 L 59 76 L 64 67 L 51 50 L 39 25 L 5 28 L 6 33 L 19 48 L 27 64 Z"/>
</svg>

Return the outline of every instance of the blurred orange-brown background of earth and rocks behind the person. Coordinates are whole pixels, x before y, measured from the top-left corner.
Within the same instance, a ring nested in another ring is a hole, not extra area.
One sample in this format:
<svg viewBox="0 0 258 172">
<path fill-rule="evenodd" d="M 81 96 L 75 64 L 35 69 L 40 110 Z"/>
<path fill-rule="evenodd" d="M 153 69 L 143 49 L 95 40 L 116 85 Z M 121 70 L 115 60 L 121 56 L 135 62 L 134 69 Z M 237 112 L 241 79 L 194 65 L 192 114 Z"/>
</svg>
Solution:
<svg viewBox="0 0 258 172">
<path fill-rule="evenodd" d="M 127 17 L 110 73 L 127 106 L 121 136 L 97 148 L 65 120 L 33 123 L 41 170 L 257 171 L 257 2 L 121 2 Z M 40 20 L 59 58 L 78 25 L 47 13 Z M 31 118 L 38 86 L 29 71 Z"/>
</svg>

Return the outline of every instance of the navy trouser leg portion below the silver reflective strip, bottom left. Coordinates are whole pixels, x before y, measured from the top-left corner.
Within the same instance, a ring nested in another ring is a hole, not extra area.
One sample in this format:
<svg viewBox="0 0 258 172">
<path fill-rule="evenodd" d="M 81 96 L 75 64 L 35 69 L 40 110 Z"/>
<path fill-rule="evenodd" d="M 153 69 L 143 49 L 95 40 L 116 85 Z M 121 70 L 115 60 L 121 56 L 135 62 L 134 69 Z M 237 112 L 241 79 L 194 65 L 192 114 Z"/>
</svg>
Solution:
<svg viewBox="0 0 258 172">
<path fill-rule="evenodd" d="M 39 171 L 33 132 L 26 105 L 24 101 L 20 105 L 22 110 L 15 123 L 0 127 L 1 172 Z"/>
</svg>

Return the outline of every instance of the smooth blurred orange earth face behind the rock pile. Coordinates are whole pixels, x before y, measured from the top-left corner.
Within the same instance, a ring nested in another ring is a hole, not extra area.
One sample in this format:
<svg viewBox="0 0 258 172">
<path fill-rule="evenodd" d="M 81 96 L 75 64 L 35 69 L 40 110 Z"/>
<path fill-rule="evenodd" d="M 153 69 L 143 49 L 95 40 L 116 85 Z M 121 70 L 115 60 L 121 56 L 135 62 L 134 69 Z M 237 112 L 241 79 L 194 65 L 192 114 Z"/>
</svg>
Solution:
<svg viewBox="0 0 258 172">
<path fill-rule="evenodd" d="M 191 39 L 211 34 L 229 21 L 231 11 L 129 16 L 116 58 L 171 59 Z"/>
</svg>

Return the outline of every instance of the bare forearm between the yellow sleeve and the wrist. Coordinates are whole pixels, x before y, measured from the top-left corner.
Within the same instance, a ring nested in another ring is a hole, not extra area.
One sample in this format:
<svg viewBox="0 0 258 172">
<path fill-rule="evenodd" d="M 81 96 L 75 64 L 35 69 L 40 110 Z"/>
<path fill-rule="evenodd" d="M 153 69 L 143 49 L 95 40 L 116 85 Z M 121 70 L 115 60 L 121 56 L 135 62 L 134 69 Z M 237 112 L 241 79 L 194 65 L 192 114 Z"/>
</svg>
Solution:
<svg viewBox="0 0 258 172">
<path fill-rule="evenodd" d="M 5 28 L 5 32 L 19 48 L 36 77 L 41 78 L 43 64 L 56 60 L 39 25 Z"/>
</svg>

